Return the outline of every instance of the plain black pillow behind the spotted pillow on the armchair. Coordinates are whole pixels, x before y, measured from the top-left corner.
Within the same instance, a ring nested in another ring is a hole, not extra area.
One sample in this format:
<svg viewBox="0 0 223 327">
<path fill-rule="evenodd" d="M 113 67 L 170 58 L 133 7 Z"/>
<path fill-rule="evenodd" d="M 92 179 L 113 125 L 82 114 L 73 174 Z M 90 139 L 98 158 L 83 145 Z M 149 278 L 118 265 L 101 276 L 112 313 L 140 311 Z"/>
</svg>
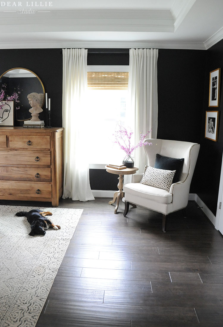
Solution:
<svg viewBox="0 0 223 327">
<path fill-rule="evenodd" d="M 184 158 L 170 158 L 161 156 L 159 153 L 156 154 L 156 161 L 154 168 L 166 169 L 166 170 L 176 170 L 173 178 L 173 183 L 176 183 L 180 179 L 180 172 L 183 167 Z"/>
</svg>

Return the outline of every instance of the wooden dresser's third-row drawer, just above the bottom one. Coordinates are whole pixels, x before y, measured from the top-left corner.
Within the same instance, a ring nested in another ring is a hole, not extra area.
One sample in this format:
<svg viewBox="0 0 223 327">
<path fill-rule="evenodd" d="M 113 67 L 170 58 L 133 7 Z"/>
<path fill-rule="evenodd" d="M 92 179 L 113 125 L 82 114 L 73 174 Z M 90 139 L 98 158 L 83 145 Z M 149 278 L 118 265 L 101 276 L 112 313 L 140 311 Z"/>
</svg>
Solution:
<svg viewBox="0 0 223 327">
<path fill-rule="evenodd" d="M 0 180 L 50 182 L 51 168 L 0 166 Z"/>
</svg>

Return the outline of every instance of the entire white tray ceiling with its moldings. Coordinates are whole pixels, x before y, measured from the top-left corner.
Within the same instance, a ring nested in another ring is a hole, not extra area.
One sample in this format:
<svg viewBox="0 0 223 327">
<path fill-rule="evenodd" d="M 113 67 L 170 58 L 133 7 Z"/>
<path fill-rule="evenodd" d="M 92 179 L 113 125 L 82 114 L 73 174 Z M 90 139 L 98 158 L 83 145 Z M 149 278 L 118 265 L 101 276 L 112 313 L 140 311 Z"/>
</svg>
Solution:
<svg viewBox="0 0 223 327">
<path fill-rule="evenodd" d="M 223 0 L 0 1 L 0 48 L 208 49 Z"/>
</svg>

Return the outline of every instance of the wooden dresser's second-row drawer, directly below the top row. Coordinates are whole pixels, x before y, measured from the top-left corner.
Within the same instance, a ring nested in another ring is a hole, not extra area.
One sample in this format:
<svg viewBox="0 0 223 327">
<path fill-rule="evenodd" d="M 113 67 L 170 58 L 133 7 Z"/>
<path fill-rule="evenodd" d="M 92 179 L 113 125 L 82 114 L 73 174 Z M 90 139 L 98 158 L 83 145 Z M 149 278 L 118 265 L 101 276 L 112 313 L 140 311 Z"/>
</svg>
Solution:
<svg viewBox="0 0 223 327">
<path fill-rule="evenodd" d="M 0 150 L 0 164 L 50 165 L 50 151 Z"/>
</svg>

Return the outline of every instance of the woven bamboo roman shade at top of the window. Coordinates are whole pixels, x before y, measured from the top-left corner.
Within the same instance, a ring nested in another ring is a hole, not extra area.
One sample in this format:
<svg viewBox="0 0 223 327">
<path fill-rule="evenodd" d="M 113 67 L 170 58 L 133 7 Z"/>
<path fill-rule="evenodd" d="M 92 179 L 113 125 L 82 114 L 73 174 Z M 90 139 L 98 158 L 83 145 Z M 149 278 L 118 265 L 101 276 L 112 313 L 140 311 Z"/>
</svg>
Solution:
<svg viewBox="0 0 223 327">
<path fill-rule="evenodd" d="M 100 90 L 128 89 L 129 72 L 87 72 L 88 87 Z"/>
</svg>

